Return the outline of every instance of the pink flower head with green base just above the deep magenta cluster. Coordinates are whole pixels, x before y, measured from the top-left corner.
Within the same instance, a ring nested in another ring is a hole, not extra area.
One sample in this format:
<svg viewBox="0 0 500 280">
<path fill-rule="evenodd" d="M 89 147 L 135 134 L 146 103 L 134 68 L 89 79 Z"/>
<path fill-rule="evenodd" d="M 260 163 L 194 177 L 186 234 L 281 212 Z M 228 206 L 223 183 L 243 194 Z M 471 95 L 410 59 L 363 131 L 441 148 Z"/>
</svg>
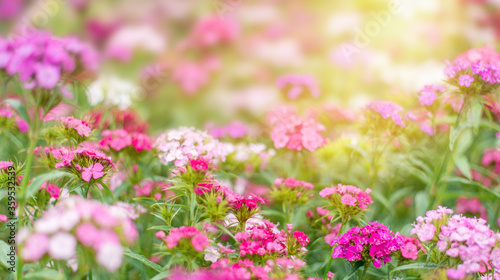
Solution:
<svg viewBox="0 0 500 280">
<path fill-rule="evenodd" d="M 328 198 L 342 217 L 354 217 L 373 203 L 371 191 L 369 188 L 363 191 L 355 186 L 339 184 L 322 189 L 319 195 Z"/>
</svg>

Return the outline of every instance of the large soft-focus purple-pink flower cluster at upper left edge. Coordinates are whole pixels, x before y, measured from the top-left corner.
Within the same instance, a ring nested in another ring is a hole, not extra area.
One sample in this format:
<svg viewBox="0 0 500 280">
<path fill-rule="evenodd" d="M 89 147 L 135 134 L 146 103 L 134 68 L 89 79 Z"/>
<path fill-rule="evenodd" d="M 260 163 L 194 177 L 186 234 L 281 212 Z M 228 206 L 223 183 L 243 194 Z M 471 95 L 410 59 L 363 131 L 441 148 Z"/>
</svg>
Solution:
<svg viewBox="0 0 500 280">
<path fill-rule="evenodd" d="M 26 37 L 0 38 L 0 69 L 9 76 L 18 75 L 26 88 L 53 89 L 63 75 L 73 73 L 80 64 L 95 70 L 97 53 L 76 37 L 35 32 Z"/>
</svg>

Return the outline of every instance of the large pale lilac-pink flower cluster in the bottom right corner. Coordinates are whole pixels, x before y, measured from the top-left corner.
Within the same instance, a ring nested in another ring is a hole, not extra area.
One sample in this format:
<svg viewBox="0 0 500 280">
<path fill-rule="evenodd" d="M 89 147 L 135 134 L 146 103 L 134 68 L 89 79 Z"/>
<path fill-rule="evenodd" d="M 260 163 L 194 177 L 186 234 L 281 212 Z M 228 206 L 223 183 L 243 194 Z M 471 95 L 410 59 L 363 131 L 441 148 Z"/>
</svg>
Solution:
<svg viewBox="0 0 500 280">
<path fill-rule="evenodd" d="M 492 264 L 500 269 L 500 236 L 478 218 L 453 215 L 441 226 L 437 248 L 451 258 L 457 258 L 456 268 L 447 270 L 450 279 L 462 279 L 467 274 L 485 273 Z"/>
</svg>

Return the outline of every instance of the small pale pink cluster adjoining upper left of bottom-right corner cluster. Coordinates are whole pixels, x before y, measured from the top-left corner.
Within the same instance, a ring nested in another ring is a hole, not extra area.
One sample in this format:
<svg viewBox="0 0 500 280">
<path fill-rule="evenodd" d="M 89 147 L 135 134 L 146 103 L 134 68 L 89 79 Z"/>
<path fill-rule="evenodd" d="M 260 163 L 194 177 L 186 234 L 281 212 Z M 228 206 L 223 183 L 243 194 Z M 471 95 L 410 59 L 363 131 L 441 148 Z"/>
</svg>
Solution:
<svg viewBox="0 0 500 280">
<path fill-rule="evenodd" d="M 443 206 L 439 206 L 437 210 L 429 210 L 425 217 L 417 217 L 417 223 L 413 224 L 410 233 L 416 234 L 421 242 L 431 241 L 436 233 L 439 234 L 441 225 L 446 223 L 451 214 L 453 210 Z"/>
</svg>

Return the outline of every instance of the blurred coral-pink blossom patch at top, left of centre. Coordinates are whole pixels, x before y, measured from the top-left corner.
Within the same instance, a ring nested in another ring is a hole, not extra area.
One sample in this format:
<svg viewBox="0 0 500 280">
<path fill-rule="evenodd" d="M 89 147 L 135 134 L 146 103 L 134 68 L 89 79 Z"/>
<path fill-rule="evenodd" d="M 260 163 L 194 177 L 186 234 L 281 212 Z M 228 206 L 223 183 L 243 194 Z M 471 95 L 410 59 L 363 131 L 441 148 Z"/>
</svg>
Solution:
<svg viewBox="0 0 500 280">
<path fill-rule="evenodd" d="M 239 34 L 238 23 L 229 17 L 211 15 L 201 18 L 191 31 L 191 42 L 199 47 L 230 43 Z"/>
</svg>

